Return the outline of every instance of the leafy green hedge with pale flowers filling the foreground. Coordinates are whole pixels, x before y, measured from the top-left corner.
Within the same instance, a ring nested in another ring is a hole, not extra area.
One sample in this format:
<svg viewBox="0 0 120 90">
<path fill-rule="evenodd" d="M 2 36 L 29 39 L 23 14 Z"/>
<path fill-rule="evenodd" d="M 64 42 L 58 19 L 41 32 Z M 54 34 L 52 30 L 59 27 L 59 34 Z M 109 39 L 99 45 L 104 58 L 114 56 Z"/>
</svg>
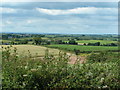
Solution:
<svg viewBox="0 0 120 90">
<path fill-rule="evenodd" d="M 30 54 L 30 52 L 29 52 Z M 113 56 L 114 57 L 114 56 Z M 117 60 L 118 58 L 116 58 Z M 68 64 L 66 53 L 50 55 L 46 50 L 43 58 L 18 55 L 17 49 L 3 48 L 2 88 L 119 88 L 118 62 L 94 62 Z"/>
</svg>

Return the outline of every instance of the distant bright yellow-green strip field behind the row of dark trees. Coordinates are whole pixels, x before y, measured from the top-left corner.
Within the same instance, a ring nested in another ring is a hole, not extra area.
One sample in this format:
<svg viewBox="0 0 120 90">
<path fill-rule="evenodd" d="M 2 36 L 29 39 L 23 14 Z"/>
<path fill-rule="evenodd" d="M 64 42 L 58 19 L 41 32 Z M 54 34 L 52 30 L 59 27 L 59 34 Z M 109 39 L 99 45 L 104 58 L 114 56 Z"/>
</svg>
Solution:
<svg viewBox="0 0 120 90">
<path fill-rule="evenodd" d="M 66 42 L 68 42 L 68 41 L 66 41 Z M 101 44 L 117 43 L 117 41 L 110 41 L 110 40 L 79 40 L 76 42 L 81 43 L 81 44 L 96 43 L 96 42 L 100 42 Z"/>
</svg>

